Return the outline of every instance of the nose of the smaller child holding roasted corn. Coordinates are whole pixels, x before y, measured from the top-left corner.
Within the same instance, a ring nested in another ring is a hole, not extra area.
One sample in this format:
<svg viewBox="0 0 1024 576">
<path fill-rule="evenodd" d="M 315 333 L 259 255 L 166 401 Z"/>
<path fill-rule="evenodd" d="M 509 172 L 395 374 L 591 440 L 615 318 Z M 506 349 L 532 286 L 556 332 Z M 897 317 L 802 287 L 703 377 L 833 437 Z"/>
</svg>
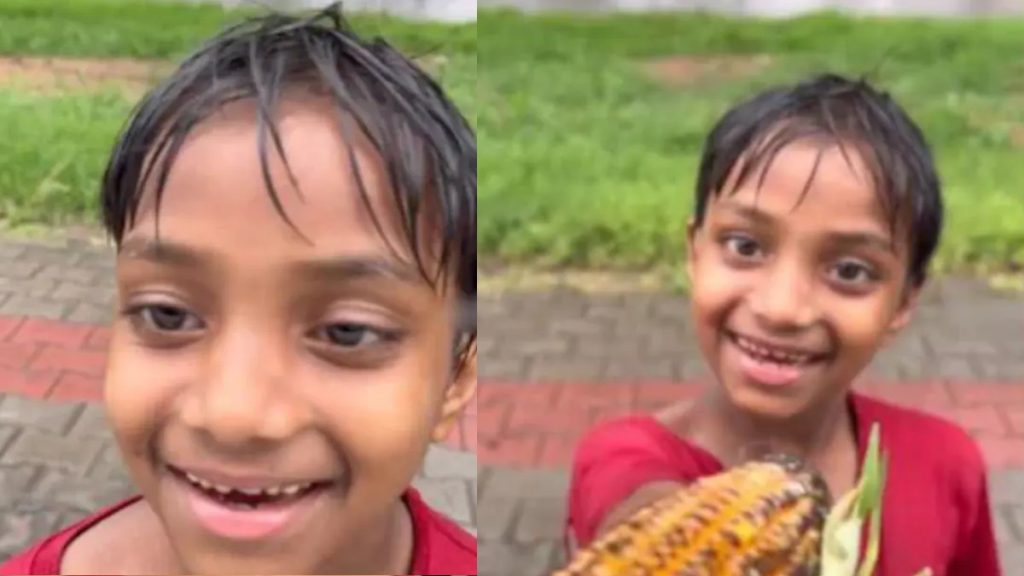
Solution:
<svg viewBox="0 0 1024 576">
<path fill-rule="evenodd" d="M 812 274 L 799 262 L 775 261 L 750 298 L 754 316 L 772 330 L 799 330 L 817 321 Z"/>
</svg>

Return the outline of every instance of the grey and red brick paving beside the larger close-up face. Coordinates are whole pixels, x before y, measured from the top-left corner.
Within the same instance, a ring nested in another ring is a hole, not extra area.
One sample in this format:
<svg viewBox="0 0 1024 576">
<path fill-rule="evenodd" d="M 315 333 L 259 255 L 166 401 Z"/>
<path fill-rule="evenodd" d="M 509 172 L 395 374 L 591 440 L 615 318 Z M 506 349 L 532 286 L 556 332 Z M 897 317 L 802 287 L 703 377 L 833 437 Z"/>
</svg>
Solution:
<svg viewBox="0 0 1024 576">
<path fill-rule="evenodd" d="M 111 275 L 101 247 L 0 238 L 0 562 L 132 493 L 97 402 Z M 475 429 L 474 406 L 416 480 L 474 533 Z"/>
</svg>

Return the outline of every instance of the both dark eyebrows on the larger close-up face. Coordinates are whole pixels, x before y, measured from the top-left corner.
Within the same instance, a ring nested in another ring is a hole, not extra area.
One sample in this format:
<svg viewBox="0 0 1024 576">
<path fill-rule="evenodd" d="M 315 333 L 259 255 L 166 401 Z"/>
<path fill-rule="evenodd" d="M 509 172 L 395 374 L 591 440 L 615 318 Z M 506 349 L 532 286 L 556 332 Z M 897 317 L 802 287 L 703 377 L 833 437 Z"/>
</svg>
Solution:
<svg viewBox="0 0 1024 576">
<path fill-rule="evenodd" d="M 217 256 L 208 251 L 186 244 L 157 241 L 152 238 L 126 240 L 121 246 L 119 257 L 179 268 L 203 268 L 217 260 Z M 305 277 L 328 277 L 346 281 L 390 279 L 410 284 L 425 282 L 419 269 L 414 265 L 373 256 L 303 260 L 290 268 L 293 273 Z"/>
</svg>

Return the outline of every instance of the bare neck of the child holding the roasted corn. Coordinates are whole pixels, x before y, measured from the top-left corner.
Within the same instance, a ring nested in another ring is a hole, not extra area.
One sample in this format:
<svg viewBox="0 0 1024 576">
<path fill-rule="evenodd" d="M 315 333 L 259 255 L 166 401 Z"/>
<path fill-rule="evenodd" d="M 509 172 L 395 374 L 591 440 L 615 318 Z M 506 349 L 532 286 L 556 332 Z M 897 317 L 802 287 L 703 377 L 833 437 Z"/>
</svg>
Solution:
<svg viewBox="0 0 1024 576">
<path fill-rule="evenodd" d="M 812 464 L 827 460 L 838 442 L 851 434 L 853 421 L 844 395 L 787 418 L 751 414 L 732 404 L 716 388 L 705 401 L 709 444 L 726 465 L 781 451 Z"/>
</svg>

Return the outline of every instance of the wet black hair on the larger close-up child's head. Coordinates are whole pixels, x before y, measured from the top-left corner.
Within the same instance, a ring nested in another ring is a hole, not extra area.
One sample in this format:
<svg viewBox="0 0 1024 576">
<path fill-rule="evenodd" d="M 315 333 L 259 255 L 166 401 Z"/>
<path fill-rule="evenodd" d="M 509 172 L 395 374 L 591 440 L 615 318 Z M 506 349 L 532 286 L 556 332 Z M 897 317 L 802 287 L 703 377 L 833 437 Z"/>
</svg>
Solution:
<svg viewBox="0 0 1024 576">
<path fill-rule="evenodd" d="M 185 138 L 219 109 L 240 100 L 257 105 L 269 200 L 301 236 L 282 207 L 268 162 L 269 154 L 278 154 L 296 183 L 274 118 L 293 92 L 326 97 L 337 109 L 347 161 L 382 233 L 352 142 L 369 141 L 379 154 L 421 274 L 435 289 L 451 282 L 460 292 L 457 354 L 464 360 L 476 335 L 476 136 L 434 80 L 383 39 L 359 37 L 337 3 L 311 15 L 271 12 L 225 29 L 138 104 L 102 181 L 102 219 L 115 244 L 120 247 L 134 225 L 151 182 L 159 238 L 161 199 Z M 431 227 L 426 235 L 424 221 Z M 424 237 L 431 248 L 439 241 L 439 251 L 423 246 Z M 437 265 L 431 268 L 427 262 L 434 258 Z"/>
</svg>

